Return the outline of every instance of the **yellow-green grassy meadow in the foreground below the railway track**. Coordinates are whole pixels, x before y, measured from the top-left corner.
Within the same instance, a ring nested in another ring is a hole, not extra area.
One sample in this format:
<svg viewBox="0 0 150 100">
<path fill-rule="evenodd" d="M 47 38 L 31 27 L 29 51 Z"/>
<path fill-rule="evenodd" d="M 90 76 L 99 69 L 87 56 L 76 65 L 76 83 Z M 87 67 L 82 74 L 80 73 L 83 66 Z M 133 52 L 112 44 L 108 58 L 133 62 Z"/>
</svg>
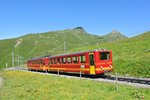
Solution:
<svg viewBox="0 0 150 100">
<path fill-rule="evenodd" d="M 2 100 L 150 100 L 150 90 L 86 79 L 4 71 Z"/>
</svg>

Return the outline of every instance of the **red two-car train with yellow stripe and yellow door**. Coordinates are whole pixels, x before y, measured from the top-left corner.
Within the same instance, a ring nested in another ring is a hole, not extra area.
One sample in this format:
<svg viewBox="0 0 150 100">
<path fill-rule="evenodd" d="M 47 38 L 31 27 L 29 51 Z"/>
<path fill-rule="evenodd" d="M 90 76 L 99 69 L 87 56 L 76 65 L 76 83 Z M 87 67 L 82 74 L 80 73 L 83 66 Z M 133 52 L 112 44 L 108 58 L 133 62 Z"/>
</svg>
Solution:
<svg viewBox="0 0 150 100">
<path fill-rule="evenodd" d="M 73 54 L 33 58 L 27 61 L 29 70 L 105 74 L 113 70 L 112 51 L 94 50 Z"/>
</svg>

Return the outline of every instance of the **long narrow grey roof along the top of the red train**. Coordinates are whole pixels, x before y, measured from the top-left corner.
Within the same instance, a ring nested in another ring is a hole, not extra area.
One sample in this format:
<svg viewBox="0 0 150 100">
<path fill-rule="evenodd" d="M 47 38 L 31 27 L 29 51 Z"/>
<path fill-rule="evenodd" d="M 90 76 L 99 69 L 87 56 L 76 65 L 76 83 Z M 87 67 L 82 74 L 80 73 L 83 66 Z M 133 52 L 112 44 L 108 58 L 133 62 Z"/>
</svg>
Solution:
<svg viewBox="0 0 150 100">
<path fill-rule="evenodd" d="M 75 54 L 82 54 L 82 53 L 89 53 L 89 52 L 96 52 L 96 51 L 110 51 L 110 50 L 106 50 L 106 49 L 99 49 L 99 50 L 89 50 L 89 51 L 83 51 L 83 52 L 75 52 L 75 53 L 68 53 L 68 54 L 58 54 L 58 55 L 54 55 L 54 56 L 40 56 L 40 57 L 35 57 L 35 58 L 31 58 L 30 60 L 38 60 L 38 59 L 43 59 L 43 58 L 52 58 L 52 57 L 58 57 L 58 56 L 68 56 L 68 55 L 75 55 Z"/>
</svg>

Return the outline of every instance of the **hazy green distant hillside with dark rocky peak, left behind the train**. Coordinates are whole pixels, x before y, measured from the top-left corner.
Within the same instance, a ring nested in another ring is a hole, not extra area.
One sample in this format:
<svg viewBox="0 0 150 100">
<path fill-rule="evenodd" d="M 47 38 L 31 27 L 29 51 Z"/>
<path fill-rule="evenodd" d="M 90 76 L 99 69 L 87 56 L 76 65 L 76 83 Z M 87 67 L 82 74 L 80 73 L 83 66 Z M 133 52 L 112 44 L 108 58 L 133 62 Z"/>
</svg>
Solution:
<svg viewBox="0 0 150 100">
<path fill-rule="evenodd" d="M 94 46 L 107 42 L 106 40 L 103 37 L 88 34 L 82 27 L 31 33 L 14 39 L 0 40 L 0 68 L 12 66 L 12 52 L 15 66 L 17 66 L 18 62 L 25 63 L 32 57 L 62 54 L 73 48 Z"/>
</svg>

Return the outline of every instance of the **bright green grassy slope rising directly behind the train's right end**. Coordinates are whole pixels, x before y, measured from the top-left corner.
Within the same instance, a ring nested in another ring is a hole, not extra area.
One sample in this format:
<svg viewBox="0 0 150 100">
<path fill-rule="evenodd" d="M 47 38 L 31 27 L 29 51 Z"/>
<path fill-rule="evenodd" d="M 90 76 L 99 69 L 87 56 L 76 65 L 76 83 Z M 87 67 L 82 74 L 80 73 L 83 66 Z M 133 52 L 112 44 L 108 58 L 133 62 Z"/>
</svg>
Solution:
<svg viewBox="0 0 150 100">
<path fill-rule="evenodd" d="M 150 77 L 150 32 L 122 41 L 76 48 L 70 52 L 98 48 L 113 51 L 114 72 L 136 77 Z"/>
</svg>

